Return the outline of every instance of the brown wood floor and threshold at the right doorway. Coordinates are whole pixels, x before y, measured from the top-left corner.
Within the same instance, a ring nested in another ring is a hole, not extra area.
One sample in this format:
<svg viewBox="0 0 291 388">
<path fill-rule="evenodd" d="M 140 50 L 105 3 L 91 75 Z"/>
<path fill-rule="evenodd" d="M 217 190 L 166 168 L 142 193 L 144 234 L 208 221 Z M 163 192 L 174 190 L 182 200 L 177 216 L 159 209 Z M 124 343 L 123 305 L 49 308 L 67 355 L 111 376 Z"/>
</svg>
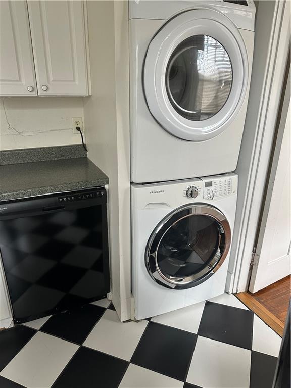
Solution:
<svg viewBox="0 0 291 388">
<path fill-rule="evenodd" d="M 239 293 L 237 298 L 282 336 L 291 296 L 291 275 L 257 293 Z"/>
</svg>

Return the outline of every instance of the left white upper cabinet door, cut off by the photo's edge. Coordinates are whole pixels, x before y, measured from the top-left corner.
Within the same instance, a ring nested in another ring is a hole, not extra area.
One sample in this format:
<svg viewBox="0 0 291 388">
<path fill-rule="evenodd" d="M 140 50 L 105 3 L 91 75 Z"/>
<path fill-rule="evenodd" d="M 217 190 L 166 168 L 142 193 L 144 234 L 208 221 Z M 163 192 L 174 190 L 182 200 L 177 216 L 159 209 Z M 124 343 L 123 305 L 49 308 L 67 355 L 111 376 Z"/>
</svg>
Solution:
<svg viewBox="0 0 291 388">
<path fill-rule="evenodd" d="M 37 95 L 24 0 L 0 1 L 0 94 Z"/>
</svg>

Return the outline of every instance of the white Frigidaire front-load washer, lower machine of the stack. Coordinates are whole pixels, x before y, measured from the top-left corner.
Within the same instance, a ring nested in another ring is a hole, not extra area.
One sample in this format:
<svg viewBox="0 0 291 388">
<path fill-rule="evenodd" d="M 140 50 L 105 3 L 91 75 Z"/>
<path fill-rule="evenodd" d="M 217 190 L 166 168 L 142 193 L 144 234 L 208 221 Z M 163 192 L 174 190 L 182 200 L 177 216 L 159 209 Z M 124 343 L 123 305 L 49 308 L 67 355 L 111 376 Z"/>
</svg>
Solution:
<svg viewBox="0 0 291 388">
<path fill-rule="evenodd" d="M 222 294 L 237 175 L 132 184 L 132 294 L 144 319 Z"/>
</svg>

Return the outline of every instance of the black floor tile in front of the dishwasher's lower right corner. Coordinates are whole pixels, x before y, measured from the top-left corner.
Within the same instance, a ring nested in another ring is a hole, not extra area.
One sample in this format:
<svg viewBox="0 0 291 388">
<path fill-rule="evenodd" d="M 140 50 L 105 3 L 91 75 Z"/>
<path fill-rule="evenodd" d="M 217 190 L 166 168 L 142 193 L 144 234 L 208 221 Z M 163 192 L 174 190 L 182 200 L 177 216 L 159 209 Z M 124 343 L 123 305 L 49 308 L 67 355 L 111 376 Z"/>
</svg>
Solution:
<svg viewBox="0 0 291 388">
<path fill-rule="evenodd" d="M 85 305 L 79 309 L 56 314 L 44 323 L 40 331 L 82 344 L 105 310 L 100 306 Z"/>
</svg>

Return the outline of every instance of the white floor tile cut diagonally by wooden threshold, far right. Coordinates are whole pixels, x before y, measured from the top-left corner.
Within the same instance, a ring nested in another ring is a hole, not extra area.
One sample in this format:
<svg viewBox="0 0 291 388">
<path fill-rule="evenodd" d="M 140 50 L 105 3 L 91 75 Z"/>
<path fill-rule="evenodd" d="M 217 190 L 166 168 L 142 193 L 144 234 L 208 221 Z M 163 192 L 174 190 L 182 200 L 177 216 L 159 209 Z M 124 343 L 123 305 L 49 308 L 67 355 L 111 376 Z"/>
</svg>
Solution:
<svg viewBox="0 0 291 388">
<path fill-rule="evenodd" d="M 254 314 L 253 350 L 278 357 L 281 337 Z"/>
</svg>

